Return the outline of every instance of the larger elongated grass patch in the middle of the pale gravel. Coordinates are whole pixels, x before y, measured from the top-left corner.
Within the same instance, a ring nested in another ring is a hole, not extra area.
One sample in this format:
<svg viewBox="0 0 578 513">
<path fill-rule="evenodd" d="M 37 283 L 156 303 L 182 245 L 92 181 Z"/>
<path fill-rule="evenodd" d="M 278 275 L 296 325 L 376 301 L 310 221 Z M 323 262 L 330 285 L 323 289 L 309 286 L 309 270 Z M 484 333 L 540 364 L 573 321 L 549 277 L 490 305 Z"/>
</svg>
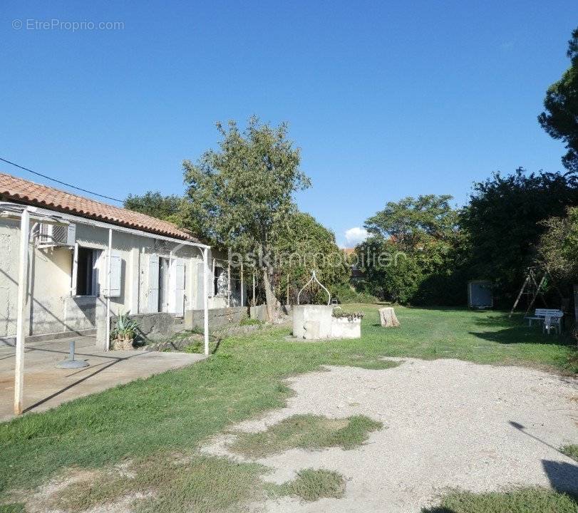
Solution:
<svg viewBox="0 0 578 513">
<path fill-rule="evenodd" d="M 341 447 L 349 450 L 363 444 L 368 433 L 383 427 L 364 415 L 330 419 L 320 415 L 293 415 L 266 431 L 240 433 L 230 449 L 247 457 L 266 457 L 277 452 L 301 448 L 319 450 Z"/>
</svg>

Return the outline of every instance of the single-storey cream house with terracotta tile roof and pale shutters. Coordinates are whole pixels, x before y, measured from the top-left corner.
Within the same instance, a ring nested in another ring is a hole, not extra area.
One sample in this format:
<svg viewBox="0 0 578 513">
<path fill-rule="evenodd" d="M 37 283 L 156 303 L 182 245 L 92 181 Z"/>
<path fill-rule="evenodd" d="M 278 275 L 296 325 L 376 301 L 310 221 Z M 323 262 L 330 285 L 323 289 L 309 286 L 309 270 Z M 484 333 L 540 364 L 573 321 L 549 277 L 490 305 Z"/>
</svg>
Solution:
<svg viewBox="0 0 578 513">
<path fill-rule="evenodd" d="M 175 224 L 3 173 L 0 256 L 0 341 L 17 336 L 23 261 L 24 337 L 94 331 L 103 317 L 110 330 L 119 312 L 202 317 L 245 304 L 226 255 Z"/>
</svg>

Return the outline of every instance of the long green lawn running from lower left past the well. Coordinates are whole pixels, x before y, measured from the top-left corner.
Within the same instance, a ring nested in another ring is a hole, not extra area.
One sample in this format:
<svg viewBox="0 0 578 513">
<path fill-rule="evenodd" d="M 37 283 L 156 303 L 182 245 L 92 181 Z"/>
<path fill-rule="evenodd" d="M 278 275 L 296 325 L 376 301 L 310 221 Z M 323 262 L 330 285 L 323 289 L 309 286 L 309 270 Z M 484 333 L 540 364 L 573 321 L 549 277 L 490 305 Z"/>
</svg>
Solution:
<svg viewBox="0 0 578 513">
<path fill-rule="evenodd" d="M 231 337 L 195 366 L 0 424 L 0 494 L 33 489 L 66 468 L 128 458 L 154 465 L 168 452 L 194 451 L 240 420 L 281 408 L 291 393 L 283 378 L 321 364 L 388 368 L 381 356 L 415 356 L 577 371 L 564 338 L 527 328 L 520 317 L 396 307 L 401 328 L 384 329 L 375 306 L 346 308 L 366 313 L 361 340 L 290 342 L 287 328 Z"/>
</svg>

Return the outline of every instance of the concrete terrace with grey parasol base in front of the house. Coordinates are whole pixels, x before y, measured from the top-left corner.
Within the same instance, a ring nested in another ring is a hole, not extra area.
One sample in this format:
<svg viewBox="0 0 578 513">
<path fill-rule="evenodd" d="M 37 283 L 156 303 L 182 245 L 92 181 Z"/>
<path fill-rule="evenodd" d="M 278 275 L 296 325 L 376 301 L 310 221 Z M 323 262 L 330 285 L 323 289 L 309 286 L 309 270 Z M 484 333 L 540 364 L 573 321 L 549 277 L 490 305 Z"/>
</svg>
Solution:
<svg viewBox="0 0 578 513">
<path fill-rule="evenodd" d="M 90 366 L 58 369 L 68 357 L 68 346 L 76 340 L 76 359 Z M 0 343 L 0 421 L 14 417 L 15 348 Z M 92 336 L 26 343 L 24 356 L 24 411 L 42 411 L 68 400 L 100 392 L 137 378 L 185 367 L 206 358 L 200 354 L 157 351 L 96 350 Z"/>
</svg>

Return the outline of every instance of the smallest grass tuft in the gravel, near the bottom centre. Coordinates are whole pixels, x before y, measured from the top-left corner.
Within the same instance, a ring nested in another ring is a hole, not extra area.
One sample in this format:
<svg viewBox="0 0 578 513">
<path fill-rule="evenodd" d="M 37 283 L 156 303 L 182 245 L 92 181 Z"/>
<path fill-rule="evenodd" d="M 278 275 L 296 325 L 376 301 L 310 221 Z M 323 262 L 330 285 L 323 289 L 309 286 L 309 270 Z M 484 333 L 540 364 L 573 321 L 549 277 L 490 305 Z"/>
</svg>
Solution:
<svg viewBox="0 0 578 513">
<path fill-rule="evenodd" d="M 345 494 L 345 480 L 338 472 L 325 469 L 299 470 L 294 480 L 272 484 L 269 493 L 274 497 L 299 497 L 313 502 L 323 498 L 341 499 Z"/>
</svg>

